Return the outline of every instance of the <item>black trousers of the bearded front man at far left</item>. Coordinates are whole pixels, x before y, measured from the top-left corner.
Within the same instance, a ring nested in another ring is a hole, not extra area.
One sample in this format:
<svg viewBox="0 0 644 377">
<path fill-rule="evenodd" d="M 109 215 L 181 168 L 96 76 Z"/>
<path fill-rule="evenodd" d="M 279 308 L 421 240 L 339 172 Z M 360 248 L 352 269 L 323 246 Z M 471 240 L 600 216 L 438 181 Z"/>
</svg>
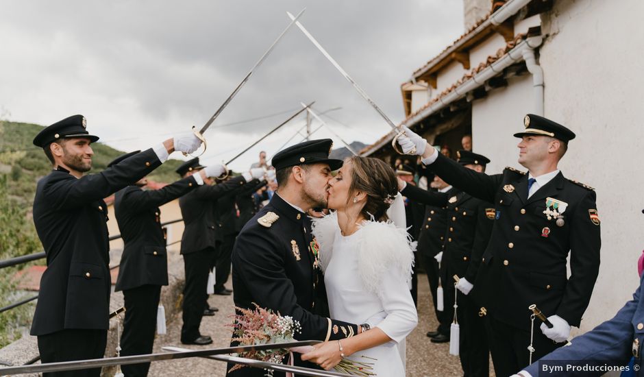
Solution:
<svg viewBox="0 0 644 377">
<path fill-rule="evenodd" d="M 40 361 L 86 360 L 102 358 L 108 342 L 108 330 L 66 329 L 47 335 L 38 335 Z M 101 368 L 43 373 L 43 377 L 99 377 Z"/>
</svg>

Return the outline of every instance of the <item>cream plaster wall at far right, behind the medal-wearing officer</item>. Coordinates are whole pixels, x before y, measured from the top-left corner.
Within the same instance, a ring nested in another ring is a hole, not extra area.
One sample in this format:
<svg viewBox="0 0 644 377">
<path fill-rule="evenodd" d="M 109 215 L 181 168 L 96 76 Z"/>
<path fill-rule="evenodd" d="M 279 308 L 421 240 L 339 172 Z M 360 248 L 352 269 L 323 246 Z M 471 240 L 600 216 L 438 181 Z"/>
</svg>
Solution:
<svg viewBox="0 0 644 377">
<path fill-rule="evenodd" d="M 582 331 L 612 318 L 638 287 L 644 249 L 641 0 L 560 0 L 545 15 L 545 116 L 577 138 L 560 165 L 597 191 L 602 265 Z"/>
</svg>

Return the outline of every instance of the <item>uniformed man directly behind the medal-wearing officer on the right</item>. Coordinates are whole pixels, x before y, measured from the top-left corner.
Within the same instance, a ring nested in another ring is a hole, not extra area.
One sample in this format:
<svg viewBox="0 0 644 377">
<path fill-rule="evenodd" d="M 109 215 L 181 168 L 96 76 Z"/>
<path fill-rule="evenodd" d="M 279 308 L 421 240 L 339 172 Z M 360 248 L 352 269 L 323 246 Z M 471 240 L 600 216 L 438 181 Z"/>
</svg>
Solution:
<svg viewBox="0 0 644 377">
<path fill-rule="evenodd" d="M 485 156 L 466 150 L 457 151 L 456 156 L 460 165 L 479 173 L 483 173 L 490 162 Z M 479 315 L 481 305 L 473 297 L 478 292 L 472 291 L 472 282 L 475 281 L 483 252 L 490 239 L 495 218 L 494 206 L 462 191 L 440 197 L 435 193 L 419 191 L 415 187 L 406 187 L 404 191 L 421 202 L 423 196 L 430 203 L 438 198 L 445 200 L 443 203 L 447 206 L 447 229 L 441 263 L 445 318 L 450 321 L 454 319 L 454 301 L 458 289 L 460 294 L 456 312 L 460 324 L 460 365 L 465 376 L 488 376 L 489 347 L 485 324 Z M 460 278 L 456 289 L 453 276 Z"/>
</svg>

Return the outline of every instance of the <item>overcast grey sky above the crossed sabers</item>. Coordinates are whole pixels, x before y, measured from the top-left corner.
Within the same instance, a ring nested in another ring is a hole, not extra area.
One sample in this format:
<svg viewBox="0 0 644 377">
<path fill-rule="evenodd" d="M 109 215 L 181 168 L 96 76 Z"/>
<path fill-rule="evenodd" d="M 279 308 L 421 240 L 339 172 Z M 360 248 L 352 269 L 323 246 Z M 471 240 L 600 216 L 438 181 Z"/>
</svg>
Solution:
<svg viewBox="0 0 644 377">
<path fill-rule="evenodd" d="M 0 0 L 0 116 L 48 125 L 84 114 L 101 142 L 145 149 L 201 127 L 288 25 L 286 11 L 305 7 L 301 23 L 395 123 L 400 84 L 463 32 L 460 0 Z M 322 118 L 349 143 L 389 130 L 293 27 L 208 130 L 201 159 L 231 158 L 300 101 L 341 107 Z M 231 167 L 260 149 L 270 158 L 303 125 L 304 115 Z"/>
</svg>

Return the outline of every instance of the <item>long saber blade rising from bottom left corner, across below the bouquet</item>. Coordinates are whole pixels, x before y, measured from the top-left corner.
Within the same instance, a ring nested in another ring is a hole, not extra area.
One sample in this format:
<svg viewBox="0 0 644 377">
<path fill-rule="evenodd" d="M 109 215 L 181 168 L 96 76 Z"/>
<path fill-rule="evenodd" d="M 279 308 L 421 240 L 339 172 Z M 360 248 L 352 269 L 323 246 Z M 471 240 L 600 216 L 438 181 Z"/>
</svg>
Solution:
<svg viewBox="0 0 644 377">
<path fill-rule="evenodd" d="M 152 361 L 175 360 L 178 358 L 188 358 L 197 356 L 212 356 L 218 354 L 233 354 L 240 352 L 275 350 L 277 348 L 295 348 L 302 345 L 315 345 L 321 341 L 291 341 L 286 343 L 269 343 L 258 345 L 239 345 L 237 347 L 210 348 L 209 350 L 188 350 L 182 352 L 168 352 L 164 354 L 143 354 L 133 356 L 92 358 L 79 361 L 62 361 L 59 363 L 44 363 L 40 365 L 20 365 L 17 367 L 0 368 L 0 376 L 9 376 L 12 374 L 43 373 L 43 372 L 62 372 L 77 369 L 91 369 L 98 367 L 108 367 L 111 365 L 127 365 L 138 363 L 150 363 Z"/>
</svg>

